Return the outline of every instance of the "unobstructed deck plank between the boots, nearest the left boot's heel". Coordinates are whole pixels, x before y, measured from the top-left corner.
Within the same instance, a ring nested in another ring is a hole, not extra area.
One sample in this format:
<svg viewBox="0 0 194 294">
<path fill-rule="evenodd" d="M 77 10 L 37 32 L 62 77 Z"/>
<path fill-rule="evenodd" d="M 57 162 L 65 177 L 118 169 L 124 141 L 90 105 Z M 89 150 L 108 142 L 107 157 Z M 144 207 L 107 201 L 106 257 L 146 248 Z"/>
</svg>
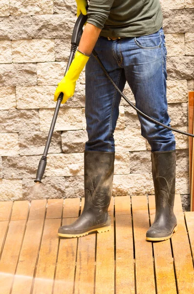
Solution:
<svg viewBox="0 0 194 294">
<path fill-rule="evenodd" d="M 115 197 L 116 294 L 134 294 L 134 257 L 130 197 Z M 122 215 L 123 212 L 123 215 Z"/>
</svg>

